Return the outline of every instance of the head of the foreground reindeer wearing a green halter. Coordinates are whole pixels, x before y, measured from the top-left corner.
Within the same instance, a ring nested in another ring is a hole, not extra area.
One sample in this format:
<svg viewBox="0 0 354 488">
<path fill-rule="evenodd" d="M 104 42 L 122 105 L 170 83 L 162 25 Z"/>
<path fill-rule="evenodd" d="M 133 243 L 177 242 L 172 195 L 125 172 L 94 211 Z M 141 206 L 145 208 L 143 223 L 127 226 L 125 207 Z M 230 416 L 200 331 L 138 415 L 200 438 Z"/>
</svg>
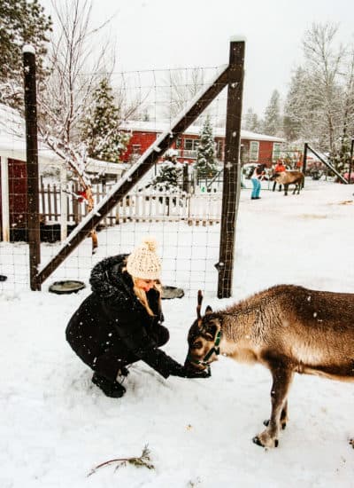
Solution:
<svg viewBox="0 0 354 488">
<path fill-rule="evenodd" d="M 196 321 L 189 329 L 189 351 L 184 363 L 184 366 L 195 369 L 205 369 L 219 356 L 220 320 L 209 306 L 206 307 L 204 317 L 201 316 L 202 301 L 203 295 L 199 290 Z"/>
</svg>

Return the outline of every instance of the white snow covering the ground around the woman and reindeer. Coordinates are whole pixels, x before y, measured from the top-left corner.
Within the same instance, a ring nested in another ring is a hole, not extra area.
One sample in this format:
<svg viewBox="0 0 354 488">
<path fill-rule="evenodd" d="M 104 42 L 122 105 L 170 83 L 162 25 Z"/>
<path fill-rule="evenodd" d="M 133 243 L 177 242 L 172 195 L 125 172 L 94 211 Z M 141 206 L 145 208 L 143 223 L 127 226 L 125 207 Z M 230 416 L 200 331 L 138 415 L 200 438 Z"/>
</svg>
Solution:
<svg viewBox="0 0 354 488">
<path fill-rule="evenodd" d="M 214 291 L 203 310 L 278 283 L 353 292 L 353 190 L 307 179 L 299 196 L 284 197 L 264 186 L 261 200 L 250 201 L 250 189 L 242 190 L 234 297 L 215 297 L 213 274 Z M 107 234 L 113 250 L 116 234 Z M 217 244 L 218 232 L 208 239 Z M 23 246 L 14 249 L 20 262 Z M 165 275 L 166 284 L 170 279 L 172 273 Z M 65 325 L 89 287 L 78 295 L 52 295 L 6 286 L 0 297 L 2 488 L 353 486 L 350 384 L 297 375 L 287 429 L 278 448 L 265 450 L 251 442 L 270 411 L 271 379 L 264 367 L 221 357 L 210 379 L 164 380 L 140 362 L 130 368 L 125 397 L 104 397 L 65 342 Z M 166 300 L 163 309 L 171 333 L 164 349 L 182 362 L 196 297 Z M 144 445 L 154 469 L 112 465 L 87 477 L 106 460 L 140 456 Z"/>
</svg>

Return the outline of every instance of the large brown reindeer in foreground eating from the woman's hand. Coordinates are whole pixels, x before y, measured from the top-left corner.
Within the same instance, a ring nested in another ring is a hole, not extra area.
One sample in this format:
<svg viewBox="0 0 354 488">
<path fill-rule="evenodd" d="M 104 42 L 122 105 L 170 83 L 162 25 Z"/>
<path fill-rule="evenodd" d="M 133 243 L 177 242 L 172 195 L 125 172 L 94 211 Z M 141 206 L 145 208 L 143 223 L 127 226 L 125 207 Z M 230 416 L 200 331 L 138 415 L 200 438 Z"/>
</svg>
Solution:
<svg viewBox="0 0 354 488">
<path fill-rule="evenodd" d="M 256 444 L 278 445 L 295 373 L 354 381 L 354 294 L 279 285 L 225 310 L 207 307 L 204 317 L 201 303 L 199 293 L 185 366 L 204 369 L 223 354 L 261 363 L 272 374 L 271 417 L 253 438 Z"/>
</svg>

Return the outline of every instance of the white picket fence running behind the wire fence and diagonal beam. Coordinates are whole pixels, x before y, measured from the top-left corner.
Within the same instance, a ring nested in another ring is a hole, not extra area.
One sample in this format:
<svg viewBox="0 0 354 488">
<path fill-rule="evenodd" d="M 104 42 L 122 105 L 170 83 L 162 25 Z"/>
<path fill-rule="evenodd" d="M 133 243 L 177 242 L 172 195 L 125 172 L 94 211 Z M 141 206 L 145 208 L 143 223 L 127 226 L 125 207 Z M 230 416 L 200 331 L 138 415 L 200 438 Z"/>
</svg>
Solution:
<svg viewBox="0 0 354 488">
<path fill-rule="evenodd" d="M 94 185 L 93 194 L 99 203 L 107 193 L 107 186 Z M 40 185 L 40 213 L 44 223 L 60 220 L 60 186 Z M 63 193 L 62 193 L 63 194 Z M 68 224 L 79 224 L 88 209 L 77 185 L 66 185 L 65 197 Z M 127 196 L 105 216 L 106 226 L 125 222 L 175 222 L 189 225 L 217 224 L 221 217 L 221 196 L 216 193 L 190 194 L 181 191 L 135 191 Z"/>
</svg>

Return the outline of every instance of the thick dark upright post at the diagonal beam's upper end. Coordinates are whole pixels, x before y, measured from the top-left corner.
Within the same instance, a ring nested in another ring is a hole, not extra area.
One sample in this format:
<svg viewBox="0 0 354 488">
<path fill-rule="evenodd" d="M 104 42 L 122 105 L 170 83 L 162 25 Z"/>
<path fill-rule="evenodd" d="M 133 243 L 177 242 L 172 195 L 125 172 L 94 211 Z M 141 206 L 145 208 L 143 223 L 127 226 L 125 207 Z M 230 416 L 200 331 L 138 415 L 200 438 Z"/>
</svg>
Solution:
<svg viewBox="0 0 354 488">
<path fill-rule="evenodd" d="M 243 40 L 231 40 L 227 88 L 227 127 L 221 207 L 218 298 L 232 295 L 235 227 L 241 193 L 241 116 L 244 65 Z"/>
</svg>

